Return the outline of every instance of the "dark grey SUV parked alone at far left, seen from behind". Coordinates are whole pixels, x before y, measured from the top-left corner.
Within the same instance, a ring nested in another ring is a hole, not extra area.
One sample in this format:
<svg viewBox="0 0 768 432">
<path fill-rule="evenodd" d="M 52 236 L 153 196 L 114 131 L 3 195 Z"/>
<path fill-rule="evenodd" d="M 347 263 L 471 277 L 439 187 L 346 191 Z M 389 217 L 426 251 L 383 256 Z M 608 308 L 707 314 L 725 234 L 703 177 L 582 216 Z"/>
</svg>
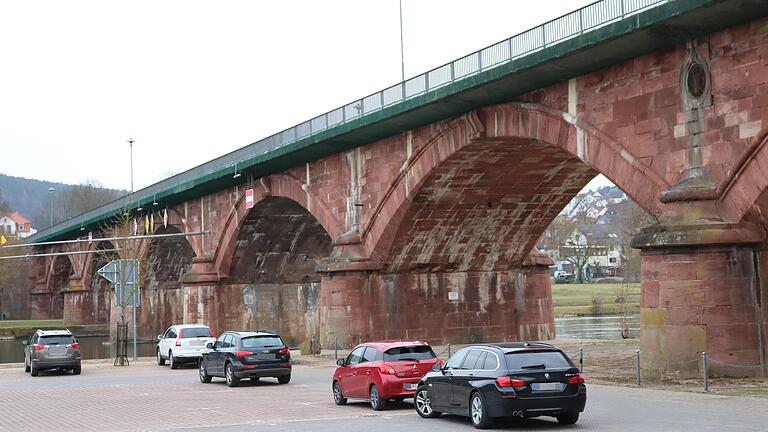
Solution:
<svg viewBox="0 0 768 432">
<path fill-rule="evenodd" d="M 37 330 L 24 345 L 24 370 L 32 376 L 45 369 L 80 374 L 80 344 L 69 330 Z"/>
</svg>

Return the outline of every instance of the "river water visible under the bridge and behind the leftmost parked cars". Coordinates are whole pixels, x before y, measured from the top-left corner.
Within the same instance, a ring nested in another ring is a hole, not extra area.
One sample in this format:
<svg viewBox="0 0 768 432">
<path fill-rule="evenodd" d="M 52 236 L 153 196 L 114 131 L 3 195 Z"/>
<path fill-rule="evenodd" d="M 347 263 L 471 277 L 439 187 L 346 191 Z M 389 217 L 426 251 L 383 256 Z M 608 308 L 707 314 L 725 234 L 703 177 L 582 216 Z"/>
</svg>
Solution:
<svg viewBox="0 0 768 432">
<path fill-rule="evenodd" d="M 621 325 L 618 316 L 586 316 L 555 318 L 558 339 L 620 339 Z M 638 337 L 640 332 L 639 315 L 627 317 L 629 337 Z M 22 339 L 0 340 L 0 363 L 21 363 L 24 361 Z M 83 359 L 111 358 L 114 355 L 109 337 L 80 337 L 80 353 Z M 139 356 L 153 356 L 154 343 L 141 343 L 137 346 Z M 133 346 L 129 343 L 128 355 L 133 355 Z"/>
</svg>

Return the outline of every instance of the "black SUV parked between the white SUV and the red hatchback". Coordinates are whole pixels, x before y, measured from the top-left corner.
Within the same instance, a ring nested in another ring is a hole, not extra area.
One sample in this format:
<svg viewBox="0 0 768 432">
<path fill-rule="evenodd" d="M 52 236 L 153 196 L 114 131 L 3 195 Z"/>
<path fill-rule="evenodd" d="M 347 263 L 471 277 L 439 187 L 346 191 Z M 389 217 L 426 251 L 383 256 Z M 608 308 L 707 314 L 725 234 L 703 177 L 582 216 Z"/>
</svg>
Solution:
<svg viewBox="0 0 768 432">
<path fill-rule="evenodd" d="M 275 377 L 280 384 L 291 380 L 291 351 L 275 333 L 224 332 L 206 347 L 199 364 L 201 382 L 222 377 L 228 386 L 237 387 L 243 378 Z"/>
</svg>

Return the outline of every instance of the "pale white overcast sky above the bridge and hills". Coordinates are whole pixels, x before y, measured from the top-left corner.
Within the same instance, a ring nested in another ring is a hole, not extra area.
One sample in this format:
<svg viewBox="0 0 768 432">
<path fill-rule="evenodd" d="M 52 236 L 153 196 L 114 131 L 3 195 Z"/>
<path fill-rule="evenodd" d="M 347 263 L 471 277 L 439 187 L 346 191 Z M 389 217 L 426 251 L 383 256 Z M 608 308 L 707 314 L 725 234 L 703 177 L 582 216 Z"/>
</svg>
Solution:
<svg viewBox="0 0 768 432">
<path fill-rule="evenodd" d="M 585 0 L 403 0 L 417 75 Z M 398 0 L 4 1 L 0 173 L 136 189 L 400 81 Z"/>
</svg>

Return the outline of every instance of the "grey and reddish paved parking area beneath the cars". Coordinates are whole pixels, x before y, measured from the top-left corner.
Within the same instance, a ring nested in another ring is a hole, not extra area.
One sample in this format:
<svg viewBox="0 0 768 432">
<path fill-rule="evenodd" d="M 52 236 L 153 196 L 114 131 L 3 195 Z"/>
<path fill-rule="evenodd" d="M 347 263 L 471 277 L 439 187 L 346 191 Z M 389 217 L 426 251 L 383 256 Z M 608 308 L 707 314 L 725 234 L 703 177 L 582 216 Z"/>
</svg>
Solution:
<svg viewBox="0 0 768 432">
<path fill-rule="evenodd" d="M 194 367 L 149 361 L 85 364 L 83 374 L 0 368 L 0 431 L 346 431 L 472 430 L 468 420 L 424 420 L 408 401 L 383 412 L 363 402 L 333 404 L 327 362 L 295 367 L 288 385 L 264 379 L 229 388 L 201 384 Z M 765 431 L 765 399 L 591 385 L 576 426 L 550 420 L 501 422 L 505 430 Z"/>
</svg>

